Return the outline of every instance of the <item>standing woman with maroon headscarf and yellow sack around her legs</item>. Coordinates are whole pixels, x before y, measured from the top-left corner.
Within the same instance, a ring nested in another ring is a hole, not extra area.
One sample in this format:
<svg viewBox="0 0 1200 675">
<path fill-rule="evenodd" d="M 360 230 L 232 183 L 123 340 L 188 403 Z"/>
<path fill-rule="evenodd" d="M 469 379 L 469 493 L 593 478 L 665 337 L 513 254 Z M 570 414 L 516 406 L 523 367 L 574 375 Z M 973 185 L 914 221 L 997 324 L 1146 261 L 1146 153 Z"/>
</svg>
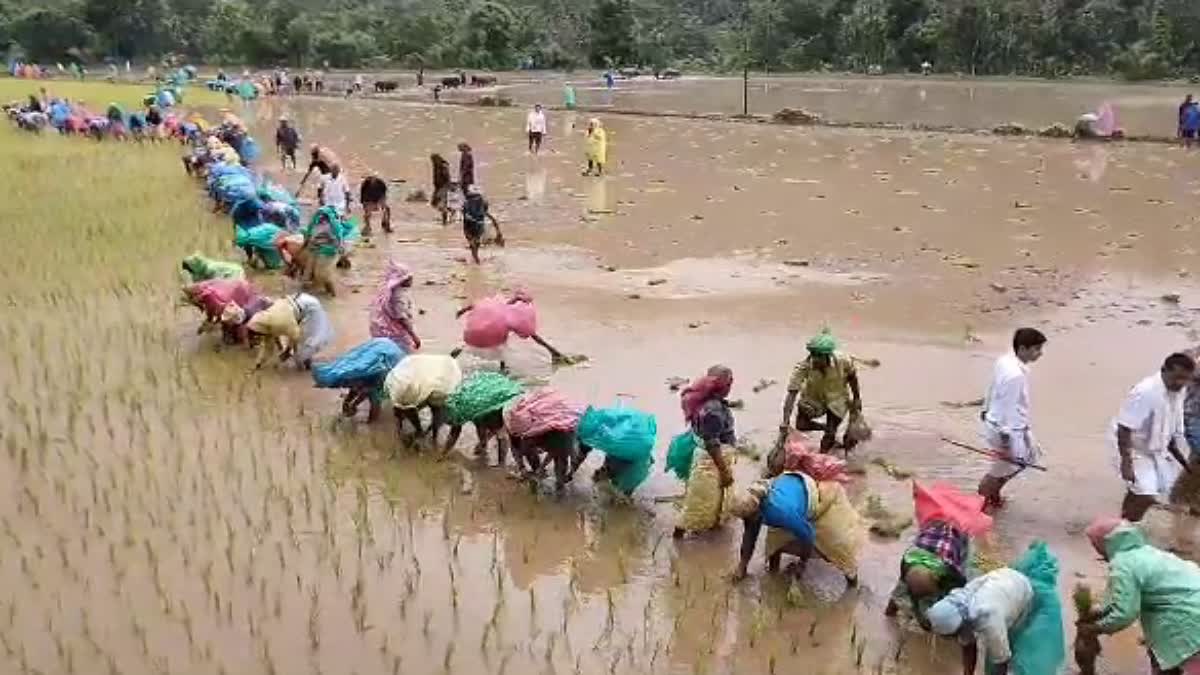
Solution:
<svg viewBox="0 0 1200 675">
<path fill-rule="evenodd" d="M 692 442 L 692 452 L 685 460 L 689 471 L 676 538 L 721 524 L 725 494 L 733 485 L 732 460 L 725 453 L 725 448 L 736 442 L 733 411 L 726 401 L 732 387 L 733 371 L 714 365 L 707 375 L 685 387 L 680 396 L 684 420 L 690 428 L 685 434 L 691 435 L 685 441 Z"/>
</svg>

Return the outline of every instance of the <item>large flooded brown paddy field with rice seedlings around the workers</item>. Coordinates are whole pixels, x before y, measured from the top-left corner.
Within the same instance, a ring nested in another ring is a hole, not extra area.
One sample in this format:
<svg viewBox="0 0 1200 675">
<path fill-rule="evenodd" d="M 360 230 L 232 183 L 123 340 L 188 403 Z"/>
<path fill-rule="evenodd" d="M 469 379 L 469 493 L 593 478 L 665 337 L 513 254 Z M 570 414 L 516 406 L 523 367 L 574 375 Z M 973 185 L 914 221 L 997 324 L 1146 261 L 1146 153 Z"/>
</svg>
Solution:
<svg viewBox="0 0 1200 675">
<path fill-rule="evenodd" d="M 655 476 L 626 501 L 593 488 L 589 462 L 559 500 L 466 455 L 400 448 L 390 423 L 338 422 L 308 375 L 250 374 L 248 354 L 194 335 L 179 259 L 235 253 L 176 149 L 23 138 L 37 145 L 0 207 L 23 251 L 0 271 L 5 671 L 960 673 L 953 643 L 882 616 L 912 530 L 870 542 L 857 589 L 814 562 L 798 605 L 761 557 L 728 581 L 738 524 L 672 540 L 682 486 L 660 470 L 682 420 L 667 381 L 733 369 L 745 482 L 805 340 L 830 327 L 877 362 L 860 375 L 876 436 L 851 491 L 904 513 L 907 473 L 973 489 L 985 460 L 941 437 L 976 441 L 970 401 L 992 359 L 1013 328 L 1042 328 L 1033 416 L 1049 471 L 1012 485 L 985 548 L 1007 558 L 1045 538 L 1069 589 L 1100 583 L 1080 532 L 1122 494 L 1109 419 L 1168 352 L 1200 341 L 1200 171 L 1182 149 L 610 115 L 607 175 L 584 178 L 580 115 L 552 114 L 530 157 L 523 110 L 245 110 L 260 139 L 281 114 L 331 145 L 352 185 L 368 171 L 396 181 L 396 233 L 361 244 L 326 301 L 331 354 L 367 336 L 388 257 L 415 270 L 431 353 L 457 346 L 464 303 L 526 286 L 541 331 L 589 362 L 552 371 L 518 345 L 515 371 L 655 413 Z M 430 153 L 460 141 L 509 240 L 479 268 L 457 227 L 403 199 L 430 189 Z M 1153 532 L 1177 533 L 1163 514 Z M 1150 671 L 1134 633 L 1108 644 L 1108 673 Z"/>
</svg>

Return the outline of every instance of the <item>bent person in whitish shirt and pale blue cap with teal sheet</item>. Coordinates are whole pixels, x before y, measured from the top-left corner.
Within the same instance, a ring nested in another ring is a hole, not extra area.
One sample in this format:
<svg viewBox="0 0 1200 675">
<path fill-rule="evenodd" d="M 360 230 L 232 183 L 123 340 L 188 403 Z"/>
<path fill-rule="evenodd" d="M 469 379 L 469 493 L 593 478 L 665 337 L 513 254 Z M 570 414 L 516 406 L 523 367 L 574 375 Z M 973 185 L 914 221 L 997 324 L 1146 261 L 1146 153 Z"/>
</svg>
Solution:
<svg viewBox="0 0 1200 675">
<path fill-rule="evenodd" d="M 979 651 L 989 673 L 1044 675 L 1066 661 L 1058 560 L 1034 542 L 1012 567 L 950 591 L 926 613 L 934 633 L 956 637 L 962 671 L 974 673 Z"/>
</svg>

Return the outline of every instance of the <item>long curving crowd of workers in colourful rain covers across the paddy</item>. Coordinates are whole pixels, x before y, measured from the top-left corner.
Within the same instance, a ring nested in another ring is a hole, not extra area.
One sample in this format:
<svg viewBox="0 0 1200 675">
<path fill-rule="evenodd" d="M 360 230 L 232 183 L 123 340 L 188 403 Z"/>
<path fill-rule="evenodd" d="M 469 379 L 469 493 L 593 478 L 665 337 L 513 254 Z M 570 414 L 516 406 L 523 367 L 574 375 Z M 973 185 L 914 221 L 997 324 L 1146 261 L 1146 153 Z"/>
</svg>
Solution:
<svg viewBox="0 0 1200 675">
<path fill-rule="evenodd" d="M 156 101 L 151 109 L 157 108 Z M 31 97 L 29 108 L 70 119 L 71 104 L 46 95 Z M 17 118 L 14 118 L 17 119 Z M 246 126 L 227 113 L 218 125 L 203 118 L 168 125 L 155 119 L 152 133 L 175 136 L 190 144 L 184 165 L 203 178 L 216 208 L 229 213 L 234 244 L 246 263 L 283 269 L 306 288 L 269 298 L 247 280 L 241 262 L 191 255 L 181 267 L 191 276 L 184 297 L 199 309 L 200 333 L 218 330 L 230 345 L 257 350 L 253 369 L 293 364 L 311 371 L 316 386 L 343 390 L 341 414 L 353 418 L 366 404 L 367 422 L 390 407 L 402 447 L 454 450 L 463 428 L 475 431 L 476 456 L 508 466 L 532 483 L 553 467 L 554 489 L 562 492 L 592 453 L 604 455 L 594 472 L 598 483 L 632 494 L 649 476 L 658 442 L 654 416 L 630 406 L 598 407 L 575 401 L 553 387 L 527 389 L 505 364 L 511 340 L 529 339 L 545 347 L 554 363 L 570 358 L 538 333 L 533 298 L 524 291 L 496 295 L 463 307 L 463 346 L 445 354 L 422 350 L 409 291 L 413 273 L 401 262 L 388 262 L 370 303 L 371 338 L 344 353 L 328 354 L 336 328 L 318 295 L 336 295 L 335 269 L 349 264 L 359 237 L 349 219 L 352 193 L 341 161 L 328 147 L 312 145 L 307 172 L 296 193 L 259 175 L 248 165 L 257 144 Z M 149 120 L 146 120 L 149 121 Z M 25 123 L 17 119 L 20 126 Z M 54 124 L 54 123 L 52 123 Z M 116 124 L 114 119 L 109 125 Z M 121 124 L 127 124 L 121 120 Z M 58 124 L 54 124 L 59 127 Z M 132 125 L 128 125 L 132 126 Z M 61 129 L 61 127 L 60 127 Z M 545 135 L 540 107 L 527 118 L 528 150 L 536 154 Z M 71 132 L 64 129 L 64 132 Z M 287 119 L 276 131 L 283 168 L 295 168 L 300 133 Z M 449 162 L 432 155 L 431 204 L 443 223 L 456 208 L 474 262 L 488 213 L 478 189 L 470 147 L 458 145 L 458 180 Z M 588 169 L 600 173 L 606 139 L 598 120 L 588 129 Z M 296 197 L 316 173 L 317 204 L 301 219 Z M 391 232 L 388 184 L 380 177 L 362 180 L 359 201 L 370 234 L 373 215 Z M 1018 474 L 1038 466 L 1038 444 L 1030 413 L 1030 366 L 1043 356 L 1048 340 L 1021 328 L 1012 350 L 995 364 L 980 413 L 982 440 L 992 465 L 978 494 L 966 495 L 944 484 L 914 483 L 918 533 L 900 560 L 899 581 L 887 614 L 911 613 L 925 629 L 956 637 L 962 645 L 965 673 L 973 673 L 979 650 L 989 673 L 1046 675 L 1058 673 L 1066 659 L 1058 563 L 1042 542 L 1034 542 L 1012 565 L 980 569 L 973 542 L 1002 512 L 1003 488 Z M 469 350 L 496 368 L 464 372 L 460 354 Z M 734 578 L 748 575 L 763 526 L 767 528 L 768 569 L 796 558 L 788 573 L 799 575 L 818 556 L 840 571 L 848 584 L 858 580 L 858 556 L 866 530 L 851 503 L 844 460 L 868 434 L 863 422 L 863 392 L 854 359 L 823 330 L 806 345 L 787 386 L 780 435 L 761 478 L 737 485 L 732 449 L 737 440 L 734 407 L 728 395 L 733 371 L 714 365 L 680 393 L 686 430 L 670 442 L 666 467 L 685 484 L 674 534 L 683 538 L 715 530 L 728 516 L 743 521 L 743 539 Z M 1094 662 L 1098 637 L 1120 632 L 1141 620 L 1156 673 L 1200 674 L 1200 567 L 1148 543 L 1139 528 L 1151 506 L 1171 502 L 1200 509 L 1200 380 L 1196 353 L 1170 354 L 1159 372 L 1139 382 L 1126 396 L 1110 432 L 1116 473 L 1127 494 L 1120 518 L 1102 518 L 1086 531 L 1091 544 L 1109 563 L 1103 602 L 1076 621 L 1076 661 Z M 845 425 L 844 425 L 845 424 Z M 443 430 L 446 431 L 444 438 Z M 820 432 L 816 447 L 806 432 Z M 839 437 L 840 431 L 840 437 Z"/>
</svg>

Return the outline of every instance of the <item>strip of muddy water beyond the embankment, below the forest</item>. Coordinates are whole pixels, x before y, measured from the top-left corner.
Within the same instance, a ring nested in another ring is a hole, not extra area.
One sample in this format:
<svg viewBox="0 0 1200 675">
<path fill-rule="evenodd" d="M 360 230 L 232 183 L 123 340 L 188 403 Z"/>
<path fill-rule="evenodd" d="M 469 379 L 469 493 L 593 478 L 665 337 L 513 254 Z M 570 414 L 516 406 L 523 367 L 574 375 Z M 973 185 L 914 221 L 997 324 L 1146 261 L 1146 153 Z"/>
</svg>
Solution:
<svg viewBox="0 0 1200 675">
<path fill-rule="evenodd" d="M 504 82 L 512 82 L 505 78 Z M 677 113 L 742 113 L 740 78 L 686 77 L 680 80 L 619 80 L 608 90 L 599 76 L 571 77 L 581 106 Z M 1070 125 L 1085 112 L 1111 103 L 1120 126 L 1136 135 L 1175 133 L 1176 106 L 1190 89 L 1115 82 L 1044 82 L 953 78 L 863 78 L 754 76 L 749 110 L 769 115 L 804 108 L 835 121 L 901 123 L 991 129 L 1019 123 L 1040 129 Z M 521 101 L 562 101 L 562 83 L 521 83 Z"/>
</svg>

